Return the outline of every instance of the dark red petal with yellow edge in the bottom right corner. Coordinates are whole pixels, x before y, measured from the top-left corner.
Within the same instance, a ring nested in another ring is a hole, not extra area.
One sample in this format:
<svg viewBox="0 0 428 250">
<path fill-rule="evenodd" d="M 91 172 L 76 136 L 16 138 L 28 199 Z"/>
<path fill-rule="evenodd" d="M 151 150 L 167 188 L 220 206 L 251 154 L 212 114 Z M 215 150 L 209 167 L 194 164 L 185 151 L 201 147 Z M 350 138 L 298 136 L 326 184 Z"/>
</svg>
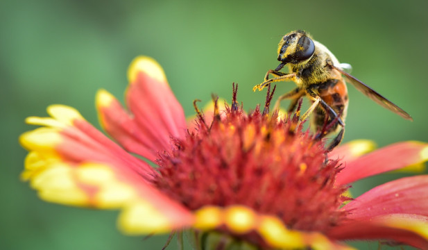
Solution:
<svg viewBox="0 0 428 250">
<path fill-rule="evenodd" d="M 428 217 L 420 215 L 384 215 L 368 220 L 349 220 L 327 233 L 336 240 L 393 240 L 428 249 Z"/>
</svg>

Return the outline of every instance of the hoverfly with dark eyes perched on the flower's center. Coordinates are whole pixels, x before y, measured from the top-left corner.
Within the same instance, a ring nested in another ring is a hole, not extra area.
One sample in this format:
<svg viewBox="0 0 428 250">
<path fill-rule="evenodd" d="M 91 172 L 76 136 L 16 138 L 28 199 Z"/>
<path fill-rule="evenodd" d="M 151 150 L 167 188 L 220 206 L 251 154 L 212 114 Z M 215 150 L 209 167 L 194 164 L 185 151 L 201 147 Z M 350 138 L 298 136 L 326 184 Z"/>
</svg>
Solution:
<svg viewBox="0 0 428 250">
<path fill-rule="evenodd" d="M 266 85 L 277 81 L 294 81 L 298 87 L 282 94 L 276 101 L 275 108 L 279 108 L 280 101 L 291 99 L 288 109 L 290 113 L 296 108 L 301 97 L 308 97 L 311 106 L 301 119 L 306 119 L 311 113 L 314 113 L 311 116 L 311 124 L 316 128 L 316 131 L 323 131 L 321 135 L 318 135 L 318 138 L 339 131 L 336 138 L 329 144 L 329 150 L 341 142 L 345 133 L 348 90 L 343 76 L 357 90 L 380 106 L 391 110 L 404 119 L 413 121 L 406 111 L 345 72 L 343 65 L 346 64 L 339 64 L 339 60 L 332 52 L 320 42 L 312 40 L 305 31 L 291 31 L 284 35 L 278 45 L 277 53 L 277 60 L 281 62 L 280 65 L 276 69 L 268 70 L 264 82 L 256 85 L 253 90 L 262 90 Z M 289 66 L 288 74 L 280 72 L 285 65 Z M 274 78 L 269 79 L 270 74 Z M 323 128 L 327 129 L 324 130 Z"/>
</svg>

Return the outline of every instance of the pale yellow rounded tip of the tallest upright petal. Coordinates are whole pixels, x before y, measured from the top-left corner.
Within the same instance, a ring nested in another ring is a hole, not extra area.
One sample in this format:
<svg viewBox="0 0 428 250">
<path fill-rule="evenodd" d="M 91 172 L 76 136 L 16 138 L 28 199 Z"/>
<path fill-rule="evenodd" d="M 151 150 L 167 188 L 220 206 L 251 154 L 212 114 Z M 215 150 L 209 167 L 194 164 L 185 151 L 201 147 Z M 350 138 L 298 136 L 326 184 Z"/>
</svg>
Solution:
<svg viewBox="0 0 428 250">
<path fill-rule="evenodd" d="M 135 58 L 128 68 L 128 81 L 132 84 L 137 79 L 138 72 L 148 74 L 157 81 L 166 83 L 166 76 L 164 69 L 160 67 L 159 63 L 153 58 L 148 56 L 139 56 Z"/>
</svg>

